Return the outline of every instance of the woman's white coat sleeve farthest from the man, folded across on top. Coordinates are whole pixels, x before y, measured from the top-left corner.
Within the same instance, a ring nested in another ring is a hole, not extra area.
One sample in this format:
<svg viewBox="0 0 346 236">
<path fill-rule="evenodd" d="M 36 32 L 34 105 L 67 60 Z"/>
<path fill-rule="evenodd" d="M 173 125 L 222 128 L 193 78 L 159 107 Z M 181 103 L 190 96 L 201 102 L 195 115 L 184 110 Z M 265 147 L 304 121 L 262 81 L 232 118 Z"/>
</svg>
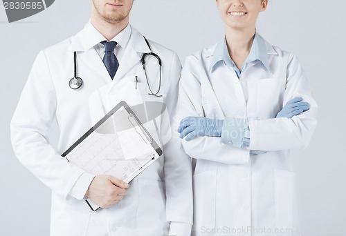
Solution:
<svg viewBox="0 0 346 236">
<path fill-rule="evenodd" d="M 310 109 L 302 114 L 287 118 L 249 121 L 251 132 L 250 148 L 253 150 L 288 150 L 307 147 L 317 125 L 318 107 L 311 88 L 298 59 L 290 55 L 286 70 L 284 101 L 302 97 Z"/>
</svg>

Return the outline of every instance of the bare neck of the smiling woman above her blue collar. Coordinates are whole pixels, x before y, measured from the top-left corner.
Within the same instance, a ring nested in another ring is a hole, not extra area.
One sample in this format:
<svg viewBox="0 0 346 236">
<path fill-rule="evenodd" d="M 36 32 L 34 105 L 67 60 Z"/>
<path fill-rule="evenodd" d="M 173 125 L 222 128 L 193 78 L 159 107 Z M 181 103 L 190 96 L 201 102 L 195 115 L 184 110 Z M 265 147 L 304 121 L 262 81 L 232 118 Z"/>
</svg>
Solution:
<svg viewBox="0 0 346 236">
<path fill-rule="evenodd" d="M 226 28 L 227 48 L 230 55 L 248 55 L 255 37 L 255 28 Z"/>
</svg>

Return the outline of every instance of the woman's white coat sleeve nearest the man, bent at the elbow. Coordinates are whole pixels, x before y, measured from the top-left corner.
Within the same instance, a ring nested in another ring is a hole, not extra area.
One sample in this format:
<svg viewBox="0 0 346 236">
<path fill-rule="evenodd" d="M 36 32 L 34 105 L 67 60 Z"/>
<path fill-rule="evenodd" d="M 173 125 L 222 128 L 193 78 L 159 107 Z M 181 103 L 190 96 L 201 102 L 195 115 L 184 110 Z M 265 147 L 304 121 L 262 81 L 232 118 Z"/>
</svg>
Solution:
<svg viewBox="0 0 346 236">
<path fill-rule="evenodd" d="M 208 79 L 201 61 L 194 56 L 186 59 L 179 84 L 179 108 L 176 128 L 185 117 L 205 117 L 201 103 L 203 79 Z M 177 132 L 176 130 L 174 130 Z M 206 159 L 224 164 L 248 164 L 249 150 L 222 144 L 219 137 L 197 137 L 190 141 L 181 139 L 185 152 L 195 159 Z"/>
</svg>

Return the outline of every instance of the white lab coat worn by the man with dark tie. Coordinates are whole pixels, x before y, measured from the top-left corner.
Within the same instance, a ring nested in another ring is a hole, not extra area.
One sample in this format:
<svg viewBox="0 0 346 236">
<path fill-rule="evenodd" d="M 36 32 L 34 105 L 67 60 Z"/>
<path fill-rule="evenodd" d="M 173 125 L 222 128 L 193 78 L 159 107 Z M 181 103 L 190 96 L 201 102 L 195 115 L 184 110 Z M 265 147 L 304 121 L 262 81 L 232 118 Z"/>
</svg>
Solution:
<svg viewBox="0 0 346 236">
<path fill-rule="evenodd" d="M 53 190 L 51 236 L 168 235 L 171 221 L 171 228 L 176 222 L 192 224 L 191 164 L 176 139 L 163 146 L 164 156 L 131 181 L 125 198 L 111 208 L 93 213 L 83 199 L 69 195 L 84 170 L 60 155 L 94 124 L 91 114 L 94 111 L 89 109 L 93 92 L 113 83 L 124 85 L 122 79 L 137 75 L 138 87 L 144 90 L 141 90 L 142 100 L 134 103 L 163 102 L 172 115 L 181 73 L 176 53 L 149 41 L 163 63 L 160 92 L 163 97 L 152 97 L 145 92 L 146 81 L 140 64 L 140 57 L 150 50 L 140 32 L 131 28 L 129 43 L 113 81 L 100 56 L 87 42 L 88 30 L 84 28 L 75 37 L 39 52 L 11 123 L 12 145 L 19 161 Z M 78 52 L 78 77 L 84 82 L 78 90 L 69 88 L 73 51 Z M 150 63 L 147 67 L 157 70 Z M 158 77 L 149 79 L 156 90 Z M 129 83 L 135 86 L 134 81 Z M 122 91 L 123 100 L 134 97 L 127 88 L 115 87 Z M 60 127 L 57 150 L 47 140 L 54 117 Z"/>
</svg>

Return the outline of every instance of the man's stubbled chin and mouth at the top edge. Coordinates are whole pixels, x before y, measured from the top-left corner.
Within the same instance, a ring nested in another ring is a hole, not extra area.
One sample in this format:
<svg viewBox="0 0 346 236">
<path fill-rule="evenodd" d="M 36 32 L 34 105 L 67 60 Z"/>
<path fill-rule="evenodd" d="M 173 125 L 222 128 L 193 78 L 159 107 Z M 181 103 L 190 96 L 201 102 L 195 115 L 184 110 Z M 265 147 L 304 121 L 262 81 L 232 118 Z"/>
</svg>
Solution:
<svg viewBox="0 0 346 236">
<path fill-rule="evenodd" d="M 93 10 L 108 23 L 120 23 L 129 18 L 134 0 L 93 0 Z"/>
</svg>

